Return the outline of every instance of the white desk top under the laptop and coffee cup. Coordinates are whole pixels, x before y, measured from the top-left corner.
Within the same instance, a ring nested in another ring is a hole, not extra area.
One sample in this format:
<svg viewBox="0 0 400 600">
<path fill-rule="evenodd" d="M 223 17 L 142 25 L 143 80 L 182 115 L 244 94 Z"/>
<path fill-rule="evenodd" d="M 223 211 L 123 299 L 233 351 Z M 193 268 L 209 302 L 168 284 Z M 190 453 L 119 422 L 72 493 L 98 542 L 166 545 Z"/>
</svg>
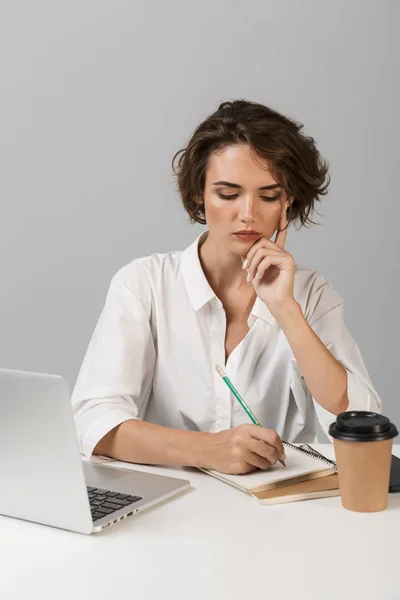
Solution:
<svg viewBox="0 0 400 600">
<path fill-rule="evenodd" d="M 262 506 L 195 470 L 134 468 L 192 489 L 91 536 L 0 517 L 0 598 L 400 598 L 400 494 L 372 514 L 340 497 Z"/>
</svg>

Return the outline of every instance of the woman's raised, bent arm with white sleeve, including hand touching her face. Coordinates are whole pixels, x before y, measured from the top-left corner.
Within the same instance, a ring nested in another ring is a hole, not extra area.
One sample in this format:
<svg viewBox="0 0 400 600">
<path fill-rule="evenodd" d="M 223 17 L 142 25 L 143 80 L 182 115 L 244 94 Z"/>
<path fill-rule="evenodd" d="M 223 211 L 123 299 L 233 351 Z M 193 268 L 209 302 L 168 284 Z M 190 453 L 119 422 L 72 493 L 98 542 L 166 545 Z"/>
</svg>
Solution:
<svg viewBox="0 0 400 600">
<path fill-rule="evenodd" d="M 287 205 L 288 202 L 285 207 Z M 304 287 L 308 282 L 300 281 L 300 289 L 295 293 L 295 262 L 284 250 L 285 207 L 275 242 L 262 237 L 247 253 L 243 263 L 248 271 L 247 280 L 253 282 L 258 297 L 285 333 L 307 384 L 305 391 L 311 392 L 324 429 L 332 415 L 344 410 L 380 412 L 380 398 L 372 386 L 361 352 L 345 326 L 340 295 L 320 276 L 313 277 L 311 286 Z M 295 299 L 304 294 L 303 316 L 303 307 Z"/>
</svg>

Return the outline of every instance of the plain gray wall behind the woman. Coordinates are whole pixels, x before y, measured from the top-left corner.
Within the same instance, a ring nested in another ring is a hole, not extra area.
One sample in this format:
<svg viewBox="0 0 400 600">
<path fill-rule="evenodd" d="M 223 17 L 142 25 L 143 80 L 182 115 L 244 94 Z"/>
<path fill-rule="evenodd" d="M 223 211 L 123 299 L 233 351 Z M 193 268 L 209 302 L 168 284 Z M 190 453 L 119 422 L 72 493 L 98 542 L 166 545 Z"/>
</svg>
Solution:
<svg viewBox="0 0 400 600">
<path fill-rule="evenodd" d="M 113 274 L 202 226 L 170 162 L 223 100 L 305 124 L 331 165 L 296 262 L 346 302 L 400 425 L 400 4 L 78 0 L 0 4 L 0 366 L 70 387 Z"/>
</svg>

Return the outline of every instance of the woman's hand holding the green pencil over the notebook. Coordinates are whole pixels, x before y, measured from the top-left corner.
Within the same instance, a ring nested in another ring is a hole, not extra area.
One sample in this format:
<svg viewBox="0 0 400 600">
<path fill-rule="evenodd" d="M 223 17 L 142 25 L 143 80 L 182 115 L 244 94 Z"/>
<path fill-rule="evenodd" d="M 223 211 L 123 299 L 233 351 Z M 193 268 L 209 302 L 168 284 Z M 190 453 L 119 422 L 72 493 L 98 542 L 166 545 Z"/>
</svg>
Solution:
<svg viewBox="0 0 400 600">
<path fill-rule="evenodd" d="M 220 473 L 250 473 L 267 469 L 279 458 L 285 460 L 285 450 L 276 431 L 258 425 L 243 424 L 210 433 L 205 441 L 202 466 Z"/>
</svg>

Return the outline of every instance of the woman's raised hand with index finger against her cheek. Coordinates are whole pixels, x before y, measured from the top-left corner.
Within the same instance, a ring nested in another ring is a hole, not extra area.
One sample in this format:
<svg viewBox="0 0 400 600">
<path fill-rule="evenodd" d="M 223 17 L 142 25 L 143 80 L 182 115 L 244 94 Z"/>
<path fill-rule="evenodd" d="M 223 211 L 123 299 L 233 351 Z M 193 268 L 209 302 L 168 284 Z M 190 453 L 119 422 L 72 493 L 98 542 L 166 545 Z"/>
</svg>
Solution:
<svg viewBox="0 0 400 600">
<path fill-rule="evenodd" d="M 273 312 L 294 302 L 295 261 L 284 249 L 287 237 L 286 207 L 279 219 L 275 242 L 262 237 L 247 253 L 243 268 L 253 283 L 257 296 Z"/>
</svg>

